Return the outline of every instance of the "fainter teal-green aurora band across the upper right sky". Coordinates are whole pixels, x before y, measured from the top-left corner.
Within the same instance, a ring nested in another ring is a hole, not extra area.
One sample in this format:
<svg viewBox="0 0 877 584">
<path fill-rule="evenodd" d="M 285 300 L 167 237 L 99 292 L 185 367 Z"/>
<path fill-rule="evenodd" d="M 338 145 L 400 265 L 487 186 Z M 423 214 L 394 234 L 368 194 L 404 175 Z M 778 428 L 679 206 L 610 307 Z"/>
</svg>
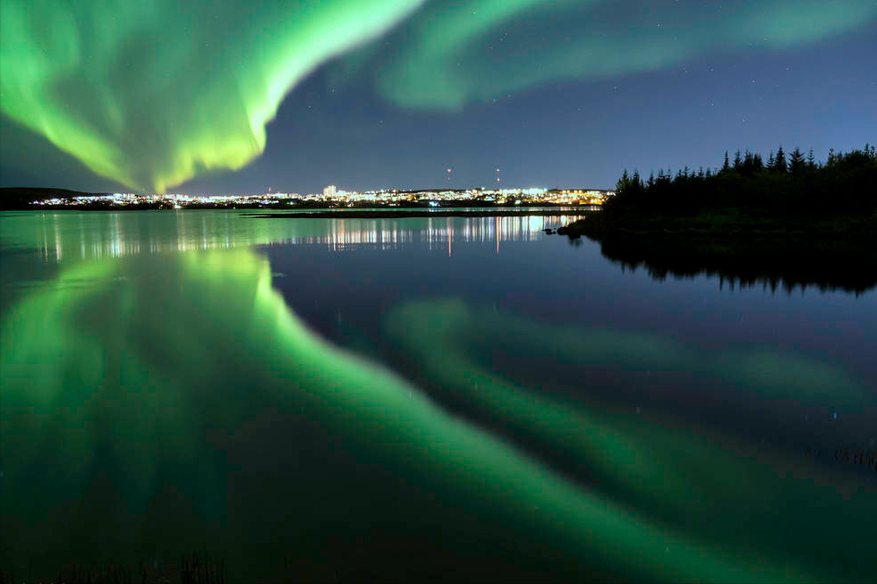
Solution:
<svg viewBox="0 0 877 584">
<path fill-rule="evenodd" d="M 869 0 L 447 0 L 352 57 L 381 95 L 457 109 L 558 80 L 617 77 L 715 51 L 778 50 L 877 18 Z"/>
</svg>

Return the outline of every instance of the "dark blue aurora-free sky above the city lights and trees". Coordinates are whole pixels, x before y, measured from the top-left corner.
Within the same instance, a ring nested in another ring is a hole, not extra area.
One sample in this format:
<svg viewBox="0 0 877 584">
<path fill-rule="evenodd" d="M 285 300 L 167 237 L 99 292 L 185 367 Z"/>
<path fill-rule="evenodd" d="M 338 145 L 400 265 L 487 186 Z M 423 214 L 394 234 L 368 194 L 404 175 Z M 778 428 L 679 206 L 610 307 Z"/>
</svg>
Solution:
<svg viewBox="0 0 877 584">
<path fill-rule="evenodd" d="M 558 23 L 558 30 L 569 27 Z M 550 32 L 541 38 L 549 49 L 561 42 Z M 396 43 L 404 34 L 397 27 L 373 45 L 401 59 Z M 352 69 L 356 55 L 342 55 L 285 97 L 268 123 L 264 153 L 250 165 L 170 190 L 490 186 L 497 167 L 502 186 L 611 188 L 624 168 L 648 175 L 718 166 L 725 149 L 767 155 L 781 143 L 812 147 L 824 159 L 829 148 L 877 141 L 877 21 L 817 36 L 788 47 L 699 46 L 647 71 L 563 75 L 453 107 L 388 97 L 374 75 L 362 74 L 386 57 L 369 56 Z M 470 47 L 468 55 L 474 50 L 481 49 Z M 562 60 L 558 50 L 545 58 Z M 539 63 L 538 52 L 529 56 Z M 6 117 L 0 129 L 4 186 L 123 188 Z"/>
</svg>

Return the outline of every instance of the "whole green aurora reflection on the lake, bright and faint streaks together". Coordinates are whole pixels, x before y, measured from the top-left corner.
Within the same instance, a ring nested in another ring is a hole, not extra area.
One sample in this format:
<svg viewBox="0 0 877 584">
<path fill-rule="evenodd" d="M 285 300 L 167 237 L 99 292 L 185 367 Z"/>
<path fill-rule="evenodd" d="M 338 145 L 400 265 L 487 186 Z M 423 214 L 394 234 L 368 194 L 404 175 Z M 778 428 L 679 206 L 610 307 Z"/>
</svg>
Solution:
<svg viewBox="0 0 877 584">
<path fill-rule="evenodd" d="M 368 565 L 351 569 L 382 580 L 423 576 L 418 554 L 436 550 L 457 578 L 864 579 L 873 493 L 841 493 L 808 461 L 747 458 L 745 437 L 729 449 L 669 417 L 637 426 L 610 408 L 561 407 L 466 359 L 465 330 L 520 334 L 514 320 L 438 303 L 389 322 L 447 391 L 529 427 L 592 484 L 319 341 L 251 252 L 141 255 L 69 267 L 4 315 L 3 562 L 207 546 L 252 575 L 290 550 L 308 565 L 365 546 Z M 535 334 L 549 351 L 564 344 Z M 635 334 L 582 341 L 634 364 L 686 359 Z M 855 381 L 812 370 L 873 408 Z M 758 387 L 768 374 L 753 360 L 737 375 Z M 795 537 L 803 524 L 816 541 Z"/>
</svg>

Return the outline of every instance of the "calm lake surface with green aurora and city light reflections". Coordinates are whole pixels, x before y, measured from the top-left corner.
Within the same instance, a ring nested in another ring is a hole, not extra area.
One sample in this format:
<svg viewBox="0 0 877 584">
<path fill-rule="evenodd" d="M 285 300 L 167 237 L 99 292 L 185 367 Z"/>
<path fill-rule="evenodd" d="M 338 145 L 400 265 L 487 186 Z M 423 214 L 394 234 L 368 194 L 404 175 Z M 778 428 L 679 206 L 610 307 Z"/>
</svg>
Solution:
<svg viewBox="0 0 877 584">
<path fill-rule="evenodd" d="M 0 216 L 0 569 L 870 580 L 877 292 L 653 279 L 572 213 Z"/>
</svg>

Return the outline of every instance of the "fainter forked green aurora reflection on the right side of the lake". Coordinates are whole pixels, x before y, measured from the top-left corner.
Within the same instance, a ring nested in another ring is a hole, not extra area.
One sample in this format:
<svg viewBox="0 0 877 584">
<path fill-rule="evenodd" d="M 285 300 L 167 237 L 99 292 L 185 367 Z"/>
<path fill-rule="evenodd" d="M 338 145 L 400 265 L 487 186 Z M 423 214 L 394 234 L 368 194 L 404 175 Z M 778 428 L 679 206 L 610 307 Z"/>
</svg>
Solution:
<svg viewBox="0 0 877 584">
<path fill-rule="evenodd" d="M 558 395 L 550 368 L 540 376 L 542 386 L 532 377 L 519 379 L 520 371 L 499 375 L 491 356 L 527 363 L 550 355 L 558 365 L 585 370 L 611 365 L 616 392 L 635 387 L 643 377 L 633 374 L 647 369 L 688 371 L 694 378 L 722 379 L 727 394 L 752 394 L 754 416 L 766 409 L 779 418 L 778 404 L 813 407 L 826 398 L 849 413 L 877 410 L 868 385 L 842 369 L 775 351 L 723 351 L 717 359 L 659 335 L 549 327 L 459 300 L 397 308 L 387 318 L 387 332 L 437 391 L 505 420 L 508 434 L 565 452 L 586 470 L 592 495 L 641 512 L 663 529 L 736 550 L 750 562 L 784 558 L 796 570 L 833 566 L 837 572 L 829 580 L 844 574 L 867 579 L 866 534 L 877 521 L 872 488 L 845 483 L 804 453 L 756 444 L 739 429 L 709 427 L 694 412 L 685 419 L 652 407 L 646 416 L 639 409 L 633 415 L 632 403 L 646 398 L 646 386 L 633 398 L 607 397 L 589 391 L 583 377 L 575 388 L 583 399 L 572 401 Z M 745 420 L 737 425 L 745 428 Z"/>
</svg>

